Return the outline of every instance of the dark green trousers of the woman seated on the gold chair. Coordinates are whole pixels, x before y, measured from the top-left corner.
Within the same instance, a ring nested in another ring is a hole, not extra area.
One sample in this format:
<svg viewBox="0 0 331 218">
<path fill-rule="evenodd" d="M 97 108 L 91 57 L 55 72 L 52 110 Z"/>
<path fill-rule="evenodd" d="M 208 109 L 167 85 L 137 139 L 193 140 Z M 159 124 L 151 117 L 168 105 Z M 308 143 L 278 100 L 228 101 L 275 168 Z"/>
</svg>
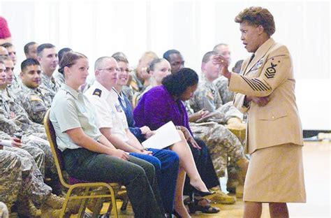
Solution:
<svg viewBox="0 0 331 218">
<path fill-rule="evenodd" d="M 151 163 L 132 156 L 124 161 L 80 148 L 64 151 L 64 165 L 69 175 L 80 180 L 123 184 L 135 217 L 163 217 L 156 201 L 160 196 Z"/>
</svg>

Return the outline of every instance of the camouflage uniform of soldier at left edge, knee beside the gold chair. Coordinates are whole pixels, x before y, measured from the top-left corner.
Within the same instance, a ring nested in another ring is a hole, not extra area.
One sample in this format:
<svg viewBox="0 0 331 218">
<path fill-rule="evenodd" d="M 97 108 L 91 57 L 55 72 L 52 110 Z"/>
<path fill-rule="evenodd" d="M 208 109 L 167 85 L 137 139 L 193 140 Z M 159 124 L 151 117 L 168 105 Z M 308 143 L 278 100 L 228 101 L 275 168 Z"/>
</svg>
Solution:
<svg viewBox="0 0 331 218">
<path fill-rule="evenodd" d="M 57 178 L 57 169 L 43 125 L 31 122 L 26 112 L 12 99 L 6 97 L 6 90 L 0 95 L 1 131 L 9 136 L 20 136 L 24 146 L 35 159 L 42 173 Z M 41 154 L 43 152 L 43 154 Z"/>
</svg>

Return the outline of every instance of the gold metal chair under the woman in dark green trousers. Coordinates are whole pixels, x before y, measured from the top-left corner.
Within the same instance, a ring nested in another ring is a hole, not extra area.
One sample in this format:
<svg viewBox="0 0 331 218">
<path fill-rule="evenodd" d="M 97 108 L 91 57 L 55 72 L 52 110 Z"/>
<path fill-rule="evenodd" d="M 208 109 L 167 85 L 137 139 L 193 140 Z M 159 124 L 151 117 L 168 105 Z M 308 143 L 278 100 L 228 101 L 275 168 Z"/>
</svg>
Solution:
<svg viewBox="0 0 331 218">
<path fill-rule="evenodd" d="M 98 200 L 99 199 L 101 200 L 102 198 L 111 198 L 112 202 L 110 203 L 110 207 L 112 206 L 112 209 L 114 210 L 115 213 L 115 217 L 118 217 L 117 205 L 115 201 L 115 192 L 113 187 L 119 188 L 121 187 L 121 185 L 118 183 L 86 182 L 70 176 L 68 178 L 68 182 L 66 182 L 66 180 L 64 180 L 64 175 L 62 172 L 62 170 L 64 170 L 64 161 L 61 151 L 57 147 L 57 136 L 55 134 L 54 127 L 52 125 L 52 122 L 50 122 L 50 110 L 47 110 L 46 115 L 44 117 L 44 126 L 48 141 L 50 142 L 50 147 L 52 149 L 55 165 L 57 166 L 57 173 L 59 174 L 59 180 L 64 187 L 68 188 L 68 192 L 66 194 L 66 198 L 61 210 L 60 217 L 64 217 L 64 213 L 66 212 L 68 201 L 75 199 L 82 199 L 82 203 L 80 204 L 80 210 L 78 212 L 78 217 L 82 217 L 82 214 L 84 213 L 85 203 L 89 198 L 98 198 Z M 74 189 L 82 189 L 82 188 L 85 189 L 83 196 L 71 196 Z M 110 194 L 96 194 L 94 193 L 93 190 L 90 191 L 91 188 L 105 189 L 104 192 L 108 192 L 107 191 L 108 189 Z M 94 217 L 98 217 L 100 210 L 98 210 L 97 212 L 98 214 L 94 215 Z M 110 208 L 108 208 L 108 212 L 109 210 Z"/>
</svg>

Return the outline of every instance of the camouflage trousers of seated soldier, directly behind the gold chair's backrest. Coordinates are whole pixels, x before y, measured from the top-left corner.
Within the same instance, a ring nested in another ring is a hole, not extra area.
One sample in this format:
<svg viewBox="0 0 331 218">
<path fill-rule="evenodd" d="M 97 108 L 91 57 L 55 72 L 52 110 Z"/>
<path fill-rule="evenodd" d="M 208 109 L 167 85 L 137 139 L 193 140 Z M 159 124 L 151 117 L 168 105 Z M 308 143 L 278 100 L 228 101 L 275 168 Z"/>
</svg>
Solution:
<svg viewBox="0 0 331 218">
<path fill-rule="evenodd" d="M 50 177 L 52 179 L 58 180 L 57 166 L 55 165 L 52 150 L 50 149 L 50 143 L 48 143 L 48 141 L 45 140 L 44 137 L 43 138 L 38 137 L 39 135 L 40 134 L 23 135 L 22 143 L 26 145 L 31 145 L 32 147 L 38 147 L 39 149 L 43 150 L 45 154 L 45 169 L 41 170 L 41 172 L 46 177 Z M 43 136 L 45 134 L 41 134 L 41 135 Z"/>
</svg>

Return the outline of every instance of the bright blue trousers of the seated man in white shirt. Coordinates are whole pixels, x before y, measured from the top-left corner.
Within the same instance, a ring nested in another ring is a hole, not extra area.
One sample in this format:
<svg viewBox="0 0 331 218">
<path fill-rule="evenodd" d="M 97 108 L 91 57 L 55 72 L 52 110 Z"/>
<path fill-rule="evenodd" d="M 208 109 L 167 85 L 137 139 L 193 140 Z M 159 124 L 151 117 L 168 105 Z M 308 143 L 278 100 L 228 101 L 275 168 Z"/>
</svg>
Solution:
<svg viewBox="0 0 331 218">
<path fill-rule="evenodd" d="M 159 183 L 163 208 L 165 212 L 172 213 L 179 168 L 178 154 L 170 150 L 152 148 L 149 151 L 153 152 L 153 156 L 137 153 L 131 153 L 131 155 L 153 164 Z"/>
</svg>

